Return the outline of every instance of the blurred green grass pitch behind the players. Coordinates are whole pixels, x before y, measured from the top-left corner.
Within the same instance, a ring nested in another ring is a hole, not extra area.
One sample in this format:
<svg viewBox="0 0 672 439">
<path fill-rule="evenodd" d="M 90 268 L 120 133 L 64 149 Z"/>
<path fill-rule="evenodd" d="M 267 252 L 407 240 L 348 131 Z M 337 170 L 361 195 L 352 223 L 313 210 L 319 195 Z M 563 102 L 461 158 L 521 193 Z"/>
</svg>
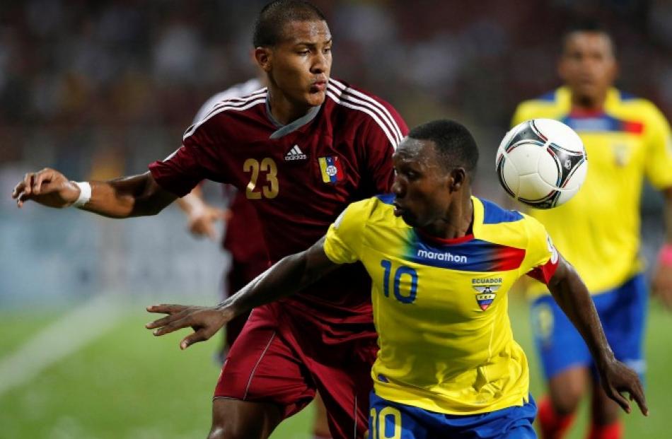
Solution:
<svg viewBox="0 0 672 439">
<path fill-rule="evenodd" d="M 177 335 L 154 339 L 143 328 L 151 318 L 141 309 L 141 305 L 128 305 L 127 315 L 102 336 L 44 368 L 37 377 L 0 393 L 0 438 L 204 438 L 219 374 L 212 360 L 216 344 L 211 341 L 183 352 L 178 349 Z M 0 317 L 1 364 L 60 315 L 15 311 L 0 312 Z M 526 305 L 514 301 L 511 321 L 516 338 L 528 352 L 532 391 L 538 396 L 540 370 L 531 349 L 527 317 Z M 627 416 L 626 437 L 671 437 L 667 418 L 672 413 L 667 373 L 667 365 L 672 364 L 670 328 L 672 316 L 657 304 L 651 305 L 647 333 L 651 415 Z M 7 379 L 0 376 L 0 380 Z M 285 421 L 273 438 L 308 438 L 311 416 L 309 406 Z M 579 417 L 571 438 L 584 437 L 585 418 L 585 413 Z"/>
</svg>

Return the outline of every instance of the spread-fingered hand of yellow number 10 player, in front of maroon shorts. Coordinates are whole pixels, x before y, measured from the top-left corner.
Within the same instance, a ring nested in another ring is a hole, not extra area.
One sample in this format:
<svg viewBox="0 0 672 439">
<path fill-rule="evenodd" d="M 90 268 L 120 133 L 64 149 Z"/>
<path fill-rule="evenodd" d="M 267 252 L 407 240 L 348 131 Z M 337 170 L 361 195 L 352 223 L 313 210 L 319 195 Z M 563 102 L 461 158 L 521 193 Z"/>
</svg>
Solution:
<svg viewBox="0 0 672 439">
<path fill-rule="evenodd" d="M 147 311 L 168 314 L 145 325 L 147 329 L 154 329 L 153 334 L 156 336 L 186 327 L 194 329 L 192 334 L 180 341 L 180 349 L 206 341 L 231 320 L 225 312 L 214 307 L 161 304 L 148 306 Z"/>
</svg>

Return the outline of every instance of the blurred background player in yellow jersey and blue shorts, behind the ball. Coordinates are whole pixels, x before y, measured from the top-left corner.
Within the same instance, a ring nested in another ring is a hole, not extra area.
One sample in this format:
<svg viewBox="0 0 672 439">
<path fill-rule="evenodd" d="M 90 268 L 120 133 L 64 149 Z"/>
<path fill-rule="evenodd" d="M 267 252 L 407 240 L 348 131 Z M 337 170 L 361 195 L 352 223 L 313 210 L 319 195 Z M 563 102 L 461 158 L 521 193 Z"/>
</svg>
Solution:
<svg viewBox="0 0 672 439">
<path fill-rule="evenodd" d="M 647 287 L 639 257 L 639 200 L 646 176 L 666 198 L 667 244 L 654 276 L 654 291 L 672 304 L 672 144 L 670 127 L 649 101 L 613 88 L 617 65 L 608 33 L 596 25 L 570 30 L 558 64 L 565 86 L 521 103 L 513 124 L 558 119 L 584 141 L 589 170 L 583 187 L 538 219 L 593 294 L 615 356 L 644 372 L 642 332 Z M 568 222 L 569 221 L 569 222 Z M 592 386 L 590 439 L 618 439 L 618 406 L 591 375 L 593 363 L 581 336 L 546 292 L 530 288 L 535 339 L 549 396 L 539 404 L 544 439 L 562 438 L 586 390 Z"/>
</svg>

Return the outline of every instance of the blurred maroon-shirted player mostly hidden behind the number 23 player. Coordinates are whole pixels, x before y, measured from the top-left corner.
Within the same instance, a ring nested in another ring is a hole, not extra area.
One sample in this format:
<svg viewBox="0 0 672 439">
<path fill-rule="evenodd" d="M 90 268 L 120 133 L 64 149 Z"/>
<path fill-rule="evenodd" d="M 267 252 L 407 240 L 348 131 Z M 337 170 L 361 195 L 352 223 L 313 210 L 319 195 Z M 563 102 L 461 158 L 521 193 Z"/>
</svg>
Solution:
<svg viewBox="0 0 672 439">
<path fill-rule="evenodd" d="M 207 117 L 208 113 L 222 101 L 251 95 L 266 86 L 265 75 L 260 71 L 258 78 L 252 78 L 216 93 L 200 107 L 193 123 L 197 124 Z M 252 202 L 245 197 L 244 192 L 238 191 L 232 185 L 222 185 L 222 191 L 228 202 L 226 210 L 208 204 L 203 198 L 200 185 L 177 201 L 180 209 L 187 214 L 187 227 L 196 236 L 216 240 L 218 236 L 216 224 L 219 221 L 226 221 L 226 231 L 221 242 L 224 251 L 231 255 L 231 266 L 224 273 L 222 282 L 226 297 L 255 279 L 269 267 L 270 262 L 261 223 Z M 217 355 L 220 363 L 224 363 L 228 350 L 238 338 L 238 334 L 241 334 L 249 315 L 249 312 L 245 312 L 226 324 L 224 339 Z M 330 438 L 327 412 L 319 393 L 315 394 L 313 402 L 315 404 L 313 438 Z"/>
</svg>

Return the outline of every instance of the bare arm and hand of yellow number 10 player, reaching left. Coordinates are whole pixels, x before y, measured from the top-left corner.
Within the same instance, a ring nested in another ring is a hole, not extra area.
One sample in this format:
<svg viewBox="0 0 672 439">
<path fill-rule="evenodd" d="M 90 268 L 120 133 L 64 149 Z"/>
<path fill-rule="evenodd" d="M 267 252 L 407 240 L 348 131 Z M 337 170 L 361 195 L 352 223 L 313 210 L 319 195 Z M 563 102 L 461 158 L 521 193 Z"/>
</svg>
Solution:
<svg viewBox="0 0 672 439">
<path fill-rule="evenodd" d="M 243 312 L 292 295 L 337 268 L 338 264 L 332 262 L 325 253 L 324 241 L 325 238 L 322 238 L 308 250 L 280 259 L 219 305 L 151 305 L 147 307 L 149 312 L 168 315 L 145 327 L 154 329 L 153 334 L 157 336 L 192 327 L 194 332 L 180 342 L 180 349 L 205 341 Z"/>
</svg>

